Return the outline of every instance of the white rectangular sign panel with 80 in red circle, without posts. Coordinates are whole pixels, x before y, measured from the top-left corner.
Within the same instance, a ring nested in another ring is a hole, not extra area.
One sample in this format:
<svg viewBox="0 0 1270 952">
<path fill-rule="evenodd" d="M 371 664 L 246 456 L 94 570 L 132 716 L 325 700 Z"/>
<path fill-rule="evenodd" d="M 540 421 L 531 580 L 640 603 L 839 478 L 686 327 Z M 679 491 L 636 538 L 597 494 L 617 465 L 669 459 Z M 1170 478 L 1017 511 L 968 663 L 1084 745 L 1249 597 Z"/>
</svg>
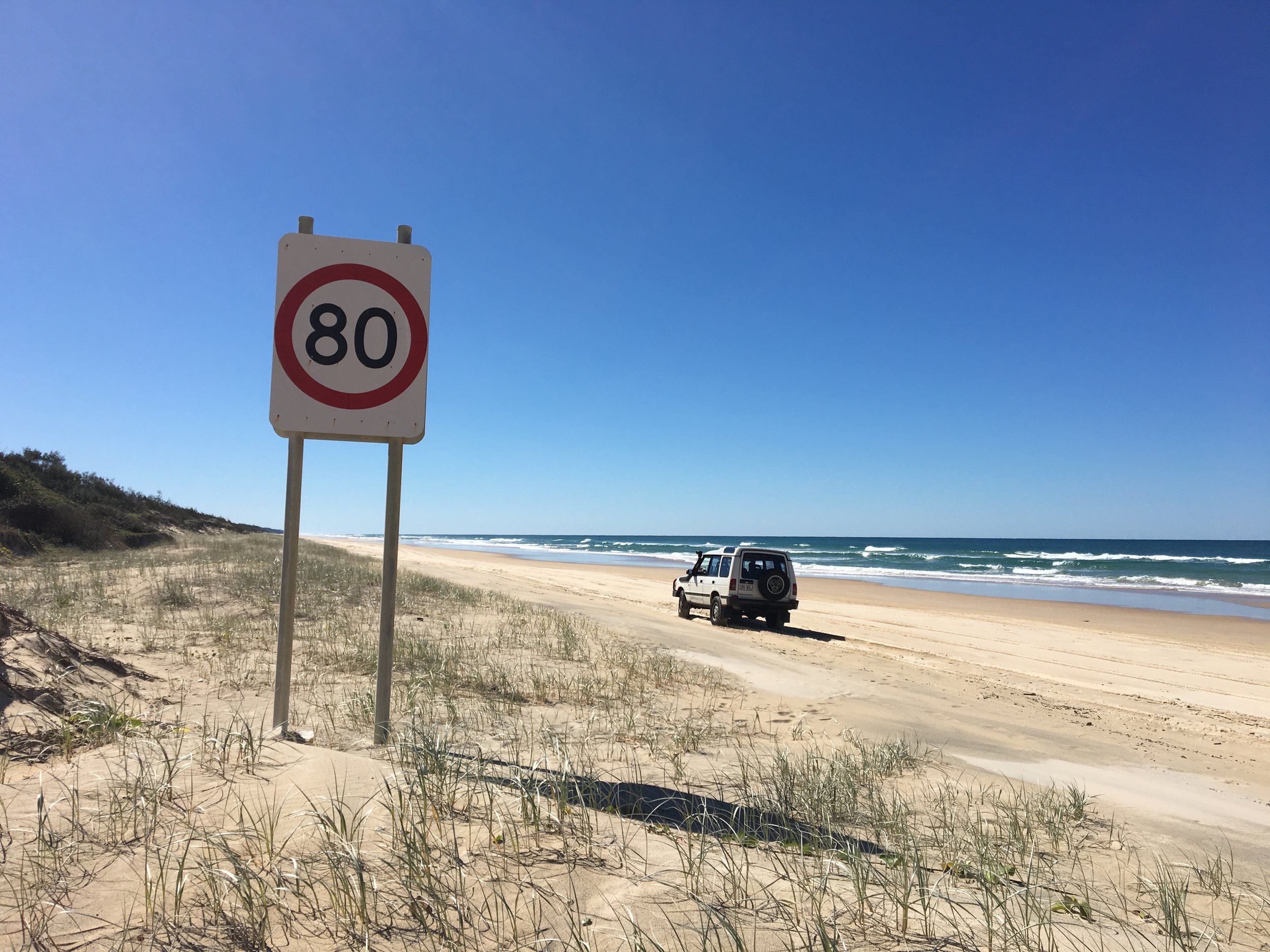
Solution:
<svg viewBox="0 0 1270 952">
<path fill-rule="evenodd" d="M 283 235 L 269 423 L 279 435 L 423 439 L 432 255 L 419 245 Z"/>
</svg>

